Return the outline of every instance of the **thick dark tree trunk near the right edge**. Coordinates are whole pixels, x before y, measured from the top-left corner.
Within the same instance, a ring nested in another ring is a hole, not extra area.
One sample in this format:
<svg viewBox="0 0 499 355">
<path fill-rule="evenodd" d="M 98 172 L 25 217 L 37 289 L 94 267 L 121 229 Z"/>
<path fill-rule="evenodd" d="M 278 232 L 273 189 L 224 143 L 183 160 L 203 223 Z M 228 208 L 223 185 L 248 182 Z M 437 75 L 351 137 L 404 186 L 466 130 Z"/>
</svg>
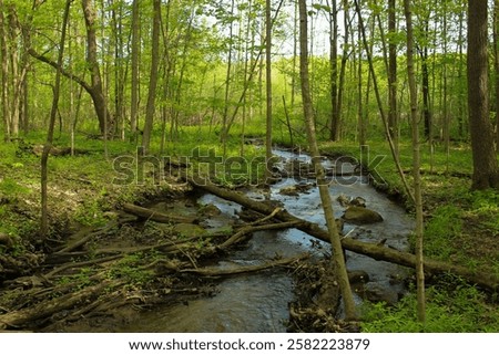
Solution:
<svg viewBox="0 0 499 355">
<path fill-rule="evenodd" d="M 473 189 L 499 188 L 499 167 L 489 117 L 488 4 L 468 1 L 468 109 L 473 159 Z"/>
</svg>

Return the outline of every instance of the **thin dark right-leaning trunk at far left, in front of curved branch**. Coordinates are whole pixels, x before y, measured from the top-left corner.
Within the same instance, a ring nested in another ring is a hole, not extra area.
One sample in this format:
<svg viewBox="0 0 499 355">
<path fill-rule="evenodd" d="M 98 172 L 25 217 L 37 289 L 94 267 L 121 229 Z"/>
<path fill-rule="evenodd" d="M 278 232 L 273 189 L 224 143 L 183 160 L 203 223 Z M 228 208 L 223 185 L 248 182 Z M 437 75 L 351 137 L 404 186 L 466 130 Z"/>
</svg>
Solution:
<svg viewBox="0 0 499 355">
<path fill-rule="evenodd" d="M 62 66 L 64 55 L 65 32 L 68 28 L 68 19 L 72 0 L 67 0 L 64 8 L 64 15 L 62 19 L 61 41 L 59 43 L 58 66 Z M 52 108 L 50 111 L 49 130 L 47 134 L 47 142 L 43 146 L 43 153 L 41 157 L 41 221 L 40 221 L 40 234 L 44 240 L 49 234 L 49 207 L 48 207 L 48 161 L 49 153 L 52 148 L 53 142 L 53 128 L 55 124 L 55 116 L 59 105 L 59 90 L 61 85 L 61 72 L 55 73 L 55 85 L 53 87 Z"/>
</svg>

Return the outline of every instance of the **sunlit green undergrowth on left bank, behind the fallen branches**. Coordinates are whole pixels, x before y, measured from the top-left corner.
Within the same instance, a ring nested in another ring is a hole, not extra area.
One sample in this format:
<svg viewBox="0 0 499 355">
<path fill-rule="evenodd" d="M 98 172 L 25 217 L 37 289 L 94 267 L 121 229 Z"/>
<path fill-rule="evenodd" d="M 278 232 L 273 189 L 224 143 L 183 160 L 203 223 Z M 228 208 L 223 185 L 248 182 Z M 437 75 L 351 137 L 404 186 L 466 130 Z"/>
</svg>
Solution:
<svg viewBox="0 0 499 355">
<path fill-rule="evenodd" d="M 261 136 L 255 130 L 255 136 Z M 95 135 L 98 136 L 98 135 Z M 251 129 L 248 136 L 253 136 Z M 139 137 L 141 139 L 141 137 Z M 45 142 L 43 132 L 33 132 L 12 143 L 0 143 L 0 232 L 11 237 L 37 233 L 40 219 L 40 156 L 34 147 Z M 139 140 L 140 142 L 140 140 Z M 60 134 L 53 145 L 70 147 L 69 134 Z M 136 143 L 109 140 L 78 134 L 74 156 L 49 158 L 49 209 L 51 234 L 63 232 L 61 220 L 82 226 L 102 226 L 106 212 L 123 202 L 140 202 L 182 186 L 167 178 L 169 164 L 185 163 L 187 174 L 227 187 L 256 184 L 263 176 L 265 150 L 245 144 L 242 136 L 227 138 L 225 149 L 220 132 L 210 127 L 182 127 L 161 149 L 155 132 L 147 154 Z M 225 154 L 224 154 L 225 153 Z M 123 174 L 124 173 L 124 174 Z"/>
</svg>

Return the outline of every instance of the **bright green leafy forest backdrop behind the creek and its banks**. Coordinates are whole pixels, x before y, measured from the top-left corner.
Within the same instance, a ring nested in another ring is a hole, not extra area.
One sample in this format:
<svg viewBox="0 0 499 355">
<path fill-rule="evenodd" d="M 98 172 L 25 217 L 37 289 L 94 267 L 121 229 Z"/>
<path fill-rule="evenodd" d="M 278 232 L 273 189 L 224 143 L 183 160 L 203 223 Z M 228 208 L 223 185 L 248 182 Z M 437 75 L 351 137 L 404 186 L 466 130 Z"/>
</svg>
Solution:
<svg viewBox="0 0 499 355">
<path fill-rule="evenodd" d="M 48 126 L 64 3 L 0 1 L 6 140 Z M 490 122 L 496 124 L 497 6 L 490 3 Z M 401 3 L 317 1 L 308 14 L 310 90 L 323 138 L 383 139 L 380 108 L 393 137 L 409 137 Z M 291 132 L 299 138 L 296 4 L 272 1 L 272 20 L 275 135 L 283 139 Z M 414 27 L 425 138 L 444 147 L 468 140 L 467 1 L 416 1 Z M 185 126 L 207 126 L 223 138 L 258 134 L 265 119 L 265 2 L 258 0 L 74 1 L 60 67 L 59 129 L 140 142 L 138 130 L 147 130 L 151 121 L 161 152 Z"/>
</svg>

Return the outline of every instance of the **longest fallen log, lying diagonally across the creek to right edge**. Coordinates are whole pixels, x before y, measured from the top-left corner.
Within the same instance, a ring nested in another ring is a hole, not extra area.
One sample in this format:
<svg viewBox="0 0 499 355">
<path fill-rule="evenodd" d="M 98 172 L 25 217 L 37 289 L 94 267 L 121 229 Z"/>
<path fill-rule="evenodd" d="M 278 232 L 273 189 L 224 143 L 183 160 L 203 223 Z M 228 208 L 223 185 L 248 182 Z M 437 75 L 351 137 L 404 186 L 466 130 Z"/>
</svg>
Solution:
<svg viewBox="0 0 499 355">
<path fill-rule="evenodd" d="M 200 180 L 200 179 L 198 179 Z M 261 201 L 252 200 L 246 196 L 217 187 L 211 182 L 204 182 L 203 185 L 196 184 L 196 179 L 189 179 L 189 182 L 196 188 L 203 189 L 210 194 L 216 195 L 223 199 L 231 200 L 240 203 L 248 209 L 255 210 L 263 215 L 271 215 L 274 211 L 274 207 Z M 315 237 L 319 240 L 329 242 L 329 233 L 319 227 L 317 223 L 308 222 L 301 218 L 297 218 L 286 210 L 279 210 L 275 213 L 275 218 L 283 222 L 299 222 L 295 228 L 306 232 L 307 234 Z M 378 246 L 375 243 L 367 243 L 350 238 L 342 239 L 342 246 L 346 250 L 370 257 L 375 260 L 383 260 L 393 262 L 399 265 L 415 268 L 416 257 L 409 252 L 398 251 L 387 248 L 385 246 Z M 425 259 L 425 271 L 430 274 L 452 273 L 466 279 L 469 283 L 476 284 L 485 290 L 497 292 L 499 291 L 499 278 L 493 274 L 471 271 L 467 268 L 455 265 L 451 263 Z"/>
</svg>

